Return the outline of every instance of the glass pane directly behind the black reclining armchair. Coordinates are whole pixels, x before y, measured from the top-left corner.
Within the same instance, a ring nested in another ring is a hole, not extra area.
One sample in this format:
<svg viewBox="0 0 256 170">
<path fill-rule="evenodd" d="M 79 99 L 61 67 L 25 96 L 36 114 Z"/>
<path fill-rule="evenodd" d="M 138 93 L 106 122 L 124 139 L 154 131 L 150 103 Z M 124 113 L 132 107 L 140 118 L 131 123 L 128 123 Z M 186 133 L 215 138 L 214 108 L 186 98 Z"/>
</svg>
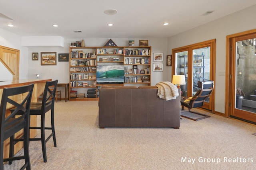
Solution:
<svg viewBox="0 0 256 170">
<path fill-rule="evenodd" d="M 192 95 L 198 90 L 198 81 L 210 80 L 210 46 L 193 50 Z M 205 102 L 209 103 L 210 97 Z"/>
</svg>

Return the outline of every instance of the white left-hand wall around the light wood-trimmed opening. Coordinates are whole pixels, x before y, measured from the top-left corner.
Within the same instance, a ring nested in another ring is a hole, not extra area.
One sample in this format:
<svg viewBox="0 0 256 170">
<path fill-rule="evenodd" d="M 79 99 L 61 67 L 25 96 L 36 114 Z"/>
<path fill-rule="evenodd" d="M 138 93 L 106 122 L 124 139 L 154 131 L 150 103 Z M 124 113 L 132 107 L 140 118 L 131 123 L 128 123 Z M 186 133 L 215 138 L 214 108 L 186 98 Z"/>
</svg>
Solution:
<svg viewBox="0 0 256 170">
<path fill-rule="evenodd" d="M 28 79 L 28 48 L 21 46 L 21 37 L 0 29 L 0 45 L 20 50 L 20 79 Z M 12 74 L 0 62 L 0 80 L 12 80 Z"/>
</svg>

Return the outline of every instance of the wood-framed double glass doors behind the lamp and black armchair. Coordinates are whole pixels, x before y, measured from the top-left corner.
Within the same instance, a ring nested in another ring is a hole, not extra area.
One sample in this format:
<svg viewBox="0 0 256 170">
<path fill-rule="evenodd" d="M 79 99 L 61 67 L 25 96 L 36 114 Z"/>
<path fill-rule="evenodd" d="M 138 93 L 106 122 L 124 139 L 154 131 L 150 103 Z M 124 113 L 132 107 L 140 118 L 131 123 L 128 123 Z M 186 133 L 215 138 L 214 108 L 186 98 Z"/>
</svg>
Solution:
<svg viewBox="0 0 256 170">
<path fill-rule="evenodd" d="M 181 85 L 182 96 L 190 97 L 198 90 L 198 81 L 215 80 L 215 42 L 205 41 L 172 50 L 172 75 L 185 75 Z M 214 93 L 204 102 L 203 108 L 214 111 Z"/>
</svg>

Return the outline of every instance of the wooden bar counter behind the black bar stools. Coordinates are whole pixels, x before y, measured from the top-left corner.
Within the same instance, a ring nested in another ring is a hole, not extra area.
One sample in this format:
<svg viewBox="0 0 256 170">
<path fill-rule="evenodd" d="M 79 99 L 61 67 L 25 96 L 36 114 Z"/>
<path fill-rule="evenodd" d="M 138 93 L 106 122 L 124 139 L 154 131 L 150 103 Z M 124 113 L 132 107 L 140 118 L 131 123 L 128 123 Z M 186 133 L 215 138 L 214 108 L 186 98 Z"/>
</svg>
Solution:
<svg viewBox="0 0 256 170">
<path fill-rule="evenodd" d="M 2 100 L 2 94 L 3 94 L 3 88 L 10 88 L 10 87 L 17 87 L 17 86 L 24 86 L 24 85 L 28 85 L 31 83 L 34 83 L 34 89 L 33 89 L 33 93 L 32 93 L 32 99 L 31 102 L 37 102 L 38 96 L 40 96 L 40 94 L 42 94 L 42 92 L 44 91 L 44 86 L 46 81 L 51 81 L 52 79 L 46 79 L 46 80 L 0 80 L 0 102 Z M 21 100 L 19 99 L 19 97 L 16 97 L 16 100 Z M 10 111 L 7 106 L 7 112 L 6 115 L 10 114 Z M 32 126 L 36 126 L 37 124 L 37 116 L 33 115 L 30 117 L 30 125 Z M 35 137 L 36 136 L 36 129 L 32 129 L 30 130 L 30 137 Z M 17 136 L 22 136 L 23 131 L 20 131 L 18 133 L 16 133 L 16 137 Z M 9 139 L 7 139 L 6 141 L 4 141 L 4 158 L 8 158 L 9 157 Z M 20 149 L 22 149 L 23 147 L 23 142 L 19 142 L 15 145 L 14 147 L 14 153 L 18 152 Z"/>
</svg>

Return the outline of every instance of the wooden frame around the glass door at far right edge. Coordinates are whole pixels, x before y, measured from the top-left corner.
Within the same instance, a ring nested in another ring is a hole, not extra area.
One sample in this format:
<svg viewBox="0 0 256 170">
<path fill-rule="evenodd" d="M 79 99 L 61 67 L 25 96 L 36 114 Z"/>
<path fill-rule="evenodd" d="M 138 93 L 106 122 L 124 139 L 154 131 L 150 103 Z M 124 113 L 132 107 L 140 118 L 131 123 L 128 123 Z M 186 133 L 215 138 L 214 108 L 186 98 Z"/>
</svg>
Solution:
<svg viewBox="0 0 256 170">
<path fill-rule="evenodd" d="M 231 106 L 235 105 L 234 100 L 235 96 L 232 90 L 235 88 L 235 84 L 232 82 L 232 77 L 235 76 L 235 66 L 232 64 L 232 57 L 236 56 L 236 42 L 235 37 L 242 37 L 252 33 L 256 33 L 256 29 L 249 31 L 244 31 L 240 33 L 235 33 L 232 35 L 226 36 L 226 77 L 225 77 L 225 117 L 230 117 L 233 113 L 234 108 Z"/>
</svg>

